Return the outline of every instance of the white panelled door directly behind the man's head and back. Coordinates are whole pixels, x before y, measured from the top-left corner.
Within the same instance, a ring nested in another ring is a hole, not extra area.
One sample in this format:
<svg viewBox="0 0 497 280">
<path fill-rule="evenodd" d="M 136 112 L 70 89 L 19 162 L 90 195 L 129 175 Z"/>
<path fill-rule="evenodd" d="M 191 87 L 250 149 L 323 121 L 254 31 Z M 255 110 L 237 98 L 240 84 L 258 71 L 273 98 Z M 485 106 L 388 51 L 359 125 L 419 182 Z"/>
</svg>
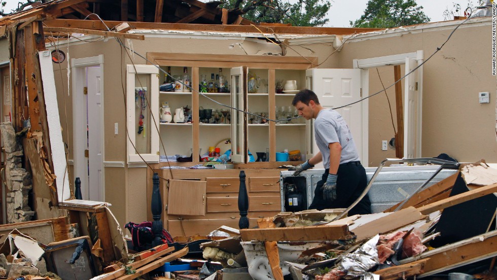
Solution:
<svg viewBox="0 0 497 280">
<path fill-rule="evenodd" d="M 334 109 L 345 106 L 337 109 L 337 112 L 347 122 L 361 161 L 367 166 L 368 151 L 363 146 L 363 136 L 367 136 L 368 127 L 363 118 L 363 110 L 367 109 L 368 103 L 367 100 L 364 100 L 351 104 L 362 98 L 361 69 L 308 69 L 306 71 L 306 83 L 307 88 L 316 93 L 319 103 L 324 108 Z M 314 133 L 314 129 L 311 132 Z M 314 137 L 312 136 L 312 138 Z M 317 152 L 319 152 L 319 149 L 314 141 L 313 154 Z M 322 164 L 318 164 L 316 168 L 324 167 Z"/>
</svg>

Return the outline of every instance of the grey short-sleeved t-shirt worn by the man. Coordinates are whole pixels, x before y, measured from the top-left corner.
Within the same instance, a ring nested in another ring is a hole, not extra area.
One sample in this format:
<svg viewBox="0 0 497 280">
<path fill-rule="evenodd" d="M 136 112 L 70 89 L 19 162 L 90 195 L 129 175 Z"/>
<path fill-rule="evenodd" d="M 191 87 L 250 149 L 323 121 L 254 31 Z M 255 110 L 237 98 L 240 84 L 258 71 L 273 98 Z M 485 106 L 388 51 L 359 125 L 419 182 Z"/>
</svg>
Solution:
<svg viewBox="0 0 497 280">
<path fill-rule="evenodd" d="M 314 121 L 316 144 L 323 155 L 323 165 L 330 168 L 330 143 L 339 142 L 342 146 L 340 164 L 349 161 L 359 161 L 356 144 L 343 117 L 335 110 L 324 109 L 317 113 Z"/>
</svg>

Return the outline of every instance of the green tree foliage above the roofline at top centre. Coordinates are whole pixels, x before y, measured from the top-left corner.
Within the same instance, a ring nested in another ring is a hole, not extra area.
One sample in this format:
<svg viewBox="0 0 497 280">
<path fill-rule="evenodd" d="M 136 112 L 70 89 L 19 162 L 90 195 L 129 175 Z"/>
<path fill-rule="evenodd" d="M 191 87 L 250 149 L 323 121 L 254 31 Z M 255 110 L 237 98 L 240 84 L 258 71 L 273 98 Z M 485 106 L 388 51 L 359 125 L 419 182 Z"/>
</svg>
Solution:
<svg viewBox="0 0 497 280">
<path fill-rule="evenodd" d="M 260 23 L 291 23 L 293 26 L 323 26 L 329 19 L 326 13 L 331 4 L 327 0 L 299 0 L 290 4 L 285 0 L 227 0 L 222 8 L 239 8 L 243 17 Z"/>
</svg>

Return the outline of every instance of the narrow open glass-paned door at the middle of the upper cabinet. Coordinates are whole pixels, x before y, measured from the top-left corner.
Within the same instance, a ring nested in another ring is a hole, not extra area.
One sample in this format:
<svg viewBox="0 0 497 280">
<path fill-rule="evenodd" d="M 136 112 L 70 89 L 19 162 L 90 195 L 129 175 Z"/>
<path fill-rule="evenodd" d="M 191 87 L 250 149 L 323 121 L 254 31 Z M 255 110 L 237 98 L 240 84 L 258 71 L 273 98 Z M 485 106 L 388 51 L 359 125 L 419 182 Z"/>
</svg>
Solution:
<svg viewBox="0 0 497 280">
<path fill-rule="evenodd" d="M 246 67 L 231 68 L 231 161 L 234 163 L 246 163 L 248 152 L 246 151 L 245 131 L 246 116 L 244 114 L 246 95 L 245 79 Z"/>
</svg>

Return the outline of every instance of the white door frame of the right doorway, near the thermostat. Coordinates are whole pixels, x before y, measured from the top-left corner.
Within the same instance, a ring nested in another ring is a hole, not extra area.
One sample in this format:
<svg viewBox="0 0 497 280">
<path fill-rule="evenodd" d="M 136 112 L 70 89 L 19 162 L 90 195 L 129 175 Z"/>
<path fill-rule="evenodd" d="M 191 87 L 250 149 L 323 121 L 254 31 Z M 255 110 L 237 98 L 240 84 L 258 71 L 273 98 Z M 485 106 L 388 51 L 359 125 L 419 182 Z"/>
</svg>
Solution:
<svg viewBox="0 0 497 280">
<path fill-rule="evenodd" d="M 369 96 L 369 80 L 364 79 L 366 77 L 369 78 L 369 68 L 375 68 L 375 67 L 381 67 L 381 66 L 393 66 L 393 65 L 403 65 L 406 64 L 406 59 L 414 59 L 420 65 L 423 63 L 423 51 L 415 51 L 411 53 L 403 53 L 403 54 L 395 54 L 395 55 L 387 55 L 387 56 L 380 56 L 380 57 L 373 57 L 373 58 L 365 58 L 365 59 L 354 59 L 353 60 L 353 67 L 354 68 L 360 68 L 362 69 L 362 82 L 364 83 L 366 81 L 367 84 L 363 84 L 363 96 Z M 418 83 L 418 99 L 417 99 L 417 119 L 416 123 L 417 126 L 415 128 L 416 130 L 416 153 L 414 157 L 421 157 L 421 132 L 422 132 L 422 96 L 423 96 L 423 66 L 421 65 L 417 70 L 417 83 Z M 407 74 L 407 73 L 406 73 Z M 404 98 L 404 110 L 406 110 L 406 100 Z M 366 109 L 367 110 L 367 109 Z M 404 112 L 404 116 L 407 116 L 408 112 Z M 369 116 L 366 114 L 363 116 L 363 118 L 369 118 Z M 404 118 L 405 119 L 405 118 Z M 407 145 L 405 145 L 407 141 L 407 131 L 408 131 L 408 125 L 404 124 L 404 155 L 407 153 Z M 369 136 L 369 135 L 367 135 Z M 364 137 L 364 135 L 363 135 Z M 367 142 L 366 142 L 367 143 Z"/>
</svg>

